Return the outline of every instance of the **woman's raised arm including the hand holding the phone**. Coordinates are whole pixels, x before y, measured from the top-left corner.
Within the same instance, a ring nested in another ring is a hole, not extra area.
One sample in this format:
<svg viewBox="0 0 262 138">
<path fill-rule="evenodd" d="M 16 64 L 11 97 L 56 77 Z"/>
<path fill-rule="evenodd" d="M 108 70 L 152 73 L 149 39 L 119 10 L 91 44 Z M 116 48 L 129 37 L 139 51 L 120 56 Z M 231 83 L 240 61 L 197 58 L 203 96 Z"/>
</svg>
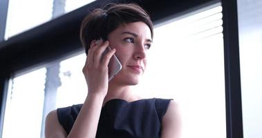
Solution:
<svg viewBox="0 0 262 138">
<path fill-rule="evenodd" d="M 107 46 L 109 46 L 109 41 L 103 43 L 102 40 L 91 42 L 91 48 L 88 50 L 88 57 L 83 68 L 88 85 L 88 95 L 67 137 L 94 138 L 96 135 L 100 112 L 109 85 L 108 64 L 115 53 L 115 49 L 113 49 L 102 59 L 102 52 L 104 52 Z M 50 113 L 50 120 L 52 121 L 52 119 L 55 120 L 55 117 L 53 117 L 53 113 Z M 49 122 L 49 119 L 47 121 Z M 54 124 L 53 122 L 48 122 L 46 127 Z M 64 131 L 62 129 L 53 128 L 53 130 L 49 130 L 48 128 L 46 136 L 55 137 L 57 134 L 60 136 Z M 64 137 L 64 135 L 61 135 L 61 137 Z"/>
</svg>

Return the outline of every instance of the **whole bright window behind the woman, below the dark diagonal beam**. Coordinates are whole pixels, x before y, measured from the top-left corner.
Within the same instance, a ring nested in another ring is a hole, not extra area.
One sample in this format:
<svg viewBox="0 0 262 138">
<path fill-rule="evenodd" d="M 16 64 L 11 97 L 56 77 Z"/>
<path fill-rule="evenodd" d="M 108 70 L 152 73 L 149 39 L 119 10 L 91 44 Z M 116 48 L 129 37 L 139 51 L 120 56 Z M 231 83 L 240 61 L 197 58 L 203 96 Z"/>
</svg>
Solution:
<svg viewBox="0 0 262 138">
<path fill-rule="evenodd" d="M 144 98 L 178 101 L 183 111 L 184 137 L 226 137 L 221 11 L 221 4 L 217 3 L 155 26 L 147 71 L 141 83 L 133 88 Z M 86 82 L 82 75 L 85 59 L 86 55 L 80 54 L 59 62 L 61 86 L 57 86 L 56 108 L 83 103 L 86 98 Z M 18 137 L 15 134 L 39 137 L 46 72 L 46 68 L 42 68 L 13 79 L 8 92 L 3 137 Z M 28 112 L 34 117 L 22 116 L 20 112 Z M 24 122 L 20 126 L 14 121 L 24 121 L 22 117 L 32 118 L 26 120 L 32 120 L 27 123 L 30 126 L 25 127 Z"/>
</svg>

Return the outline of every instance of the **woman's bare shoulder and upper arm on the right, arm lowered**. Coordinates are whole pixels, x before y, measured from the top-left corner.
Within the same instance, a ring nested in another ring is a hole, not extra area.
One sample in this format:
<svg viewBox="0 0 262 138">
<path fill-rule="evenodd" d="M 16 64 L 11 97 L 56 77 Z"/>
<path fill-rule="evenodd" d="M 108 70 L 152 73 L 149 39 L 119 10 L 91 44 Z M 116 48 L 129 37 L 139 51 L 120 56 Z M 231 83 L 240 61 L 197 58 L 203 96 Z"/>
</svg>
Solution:
<svg viewBox="0 0 262 138">
<path fill-rule="evenodd" d="M 176 101 L 171 100 L 162 119 L 162 138 L 181 137 L 181 111 L 179 104 Z"/>
</svg>

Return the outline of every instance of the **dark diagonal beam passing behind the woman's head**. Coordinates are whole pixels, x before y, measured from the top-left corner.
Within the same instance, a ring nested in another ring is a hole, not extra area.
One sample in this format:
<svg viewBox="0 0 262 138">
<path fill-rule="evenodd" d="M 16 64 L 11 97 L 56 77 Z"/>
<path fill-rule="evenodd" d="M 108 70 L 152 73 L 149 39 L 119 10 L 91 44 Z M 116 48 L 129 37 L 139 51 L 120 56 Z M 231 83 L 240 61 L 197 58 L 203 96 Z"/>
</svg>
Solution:
<svg viewBox="0 0 262 138">
<path fill-rule="evenodd" d="M 79 26 L 88 11 L 110 2 L 130 1 L 94 1 L 82 8 L 69 12 L 62 17 L 44 23 L 37 28 L 0 43 L 0 63 L 5 65 L 5 72 L 16 72 L 28 68 L 36 63 L 47 63 L 64 57 L 72 52 L 83 50 L 79 41 Z M 153 23 L 187 11 L 190 8 L 203 6 L 205 3 L 214 3 L 210 0 L 173 0 L 135 1 L 144 7 Z"/>
</svg>

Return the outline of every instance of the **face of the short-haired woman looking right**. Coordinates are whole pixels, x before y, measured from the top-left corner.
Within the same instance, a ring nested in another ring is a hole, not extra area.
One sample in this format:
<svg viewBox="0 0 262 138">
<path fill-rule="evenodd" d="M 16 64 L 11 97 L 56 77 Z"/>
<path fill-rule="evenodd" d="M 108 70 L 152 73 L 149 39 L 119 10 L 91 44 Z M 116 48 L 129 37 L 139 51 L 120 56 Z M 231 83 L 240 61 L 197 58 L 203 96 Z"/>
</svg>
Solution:
<svg viewBox="0 0 262 138">
<path fill-rule="evenodd" d="M 121 85 L 137 84 L 147 67 L 147 52 L 152 43 L 149 27 L 143 22 L 127 23 L 113 30 L 108 40 L 122 64 L 122 70 L 112 81 Z"/>
</svg>

